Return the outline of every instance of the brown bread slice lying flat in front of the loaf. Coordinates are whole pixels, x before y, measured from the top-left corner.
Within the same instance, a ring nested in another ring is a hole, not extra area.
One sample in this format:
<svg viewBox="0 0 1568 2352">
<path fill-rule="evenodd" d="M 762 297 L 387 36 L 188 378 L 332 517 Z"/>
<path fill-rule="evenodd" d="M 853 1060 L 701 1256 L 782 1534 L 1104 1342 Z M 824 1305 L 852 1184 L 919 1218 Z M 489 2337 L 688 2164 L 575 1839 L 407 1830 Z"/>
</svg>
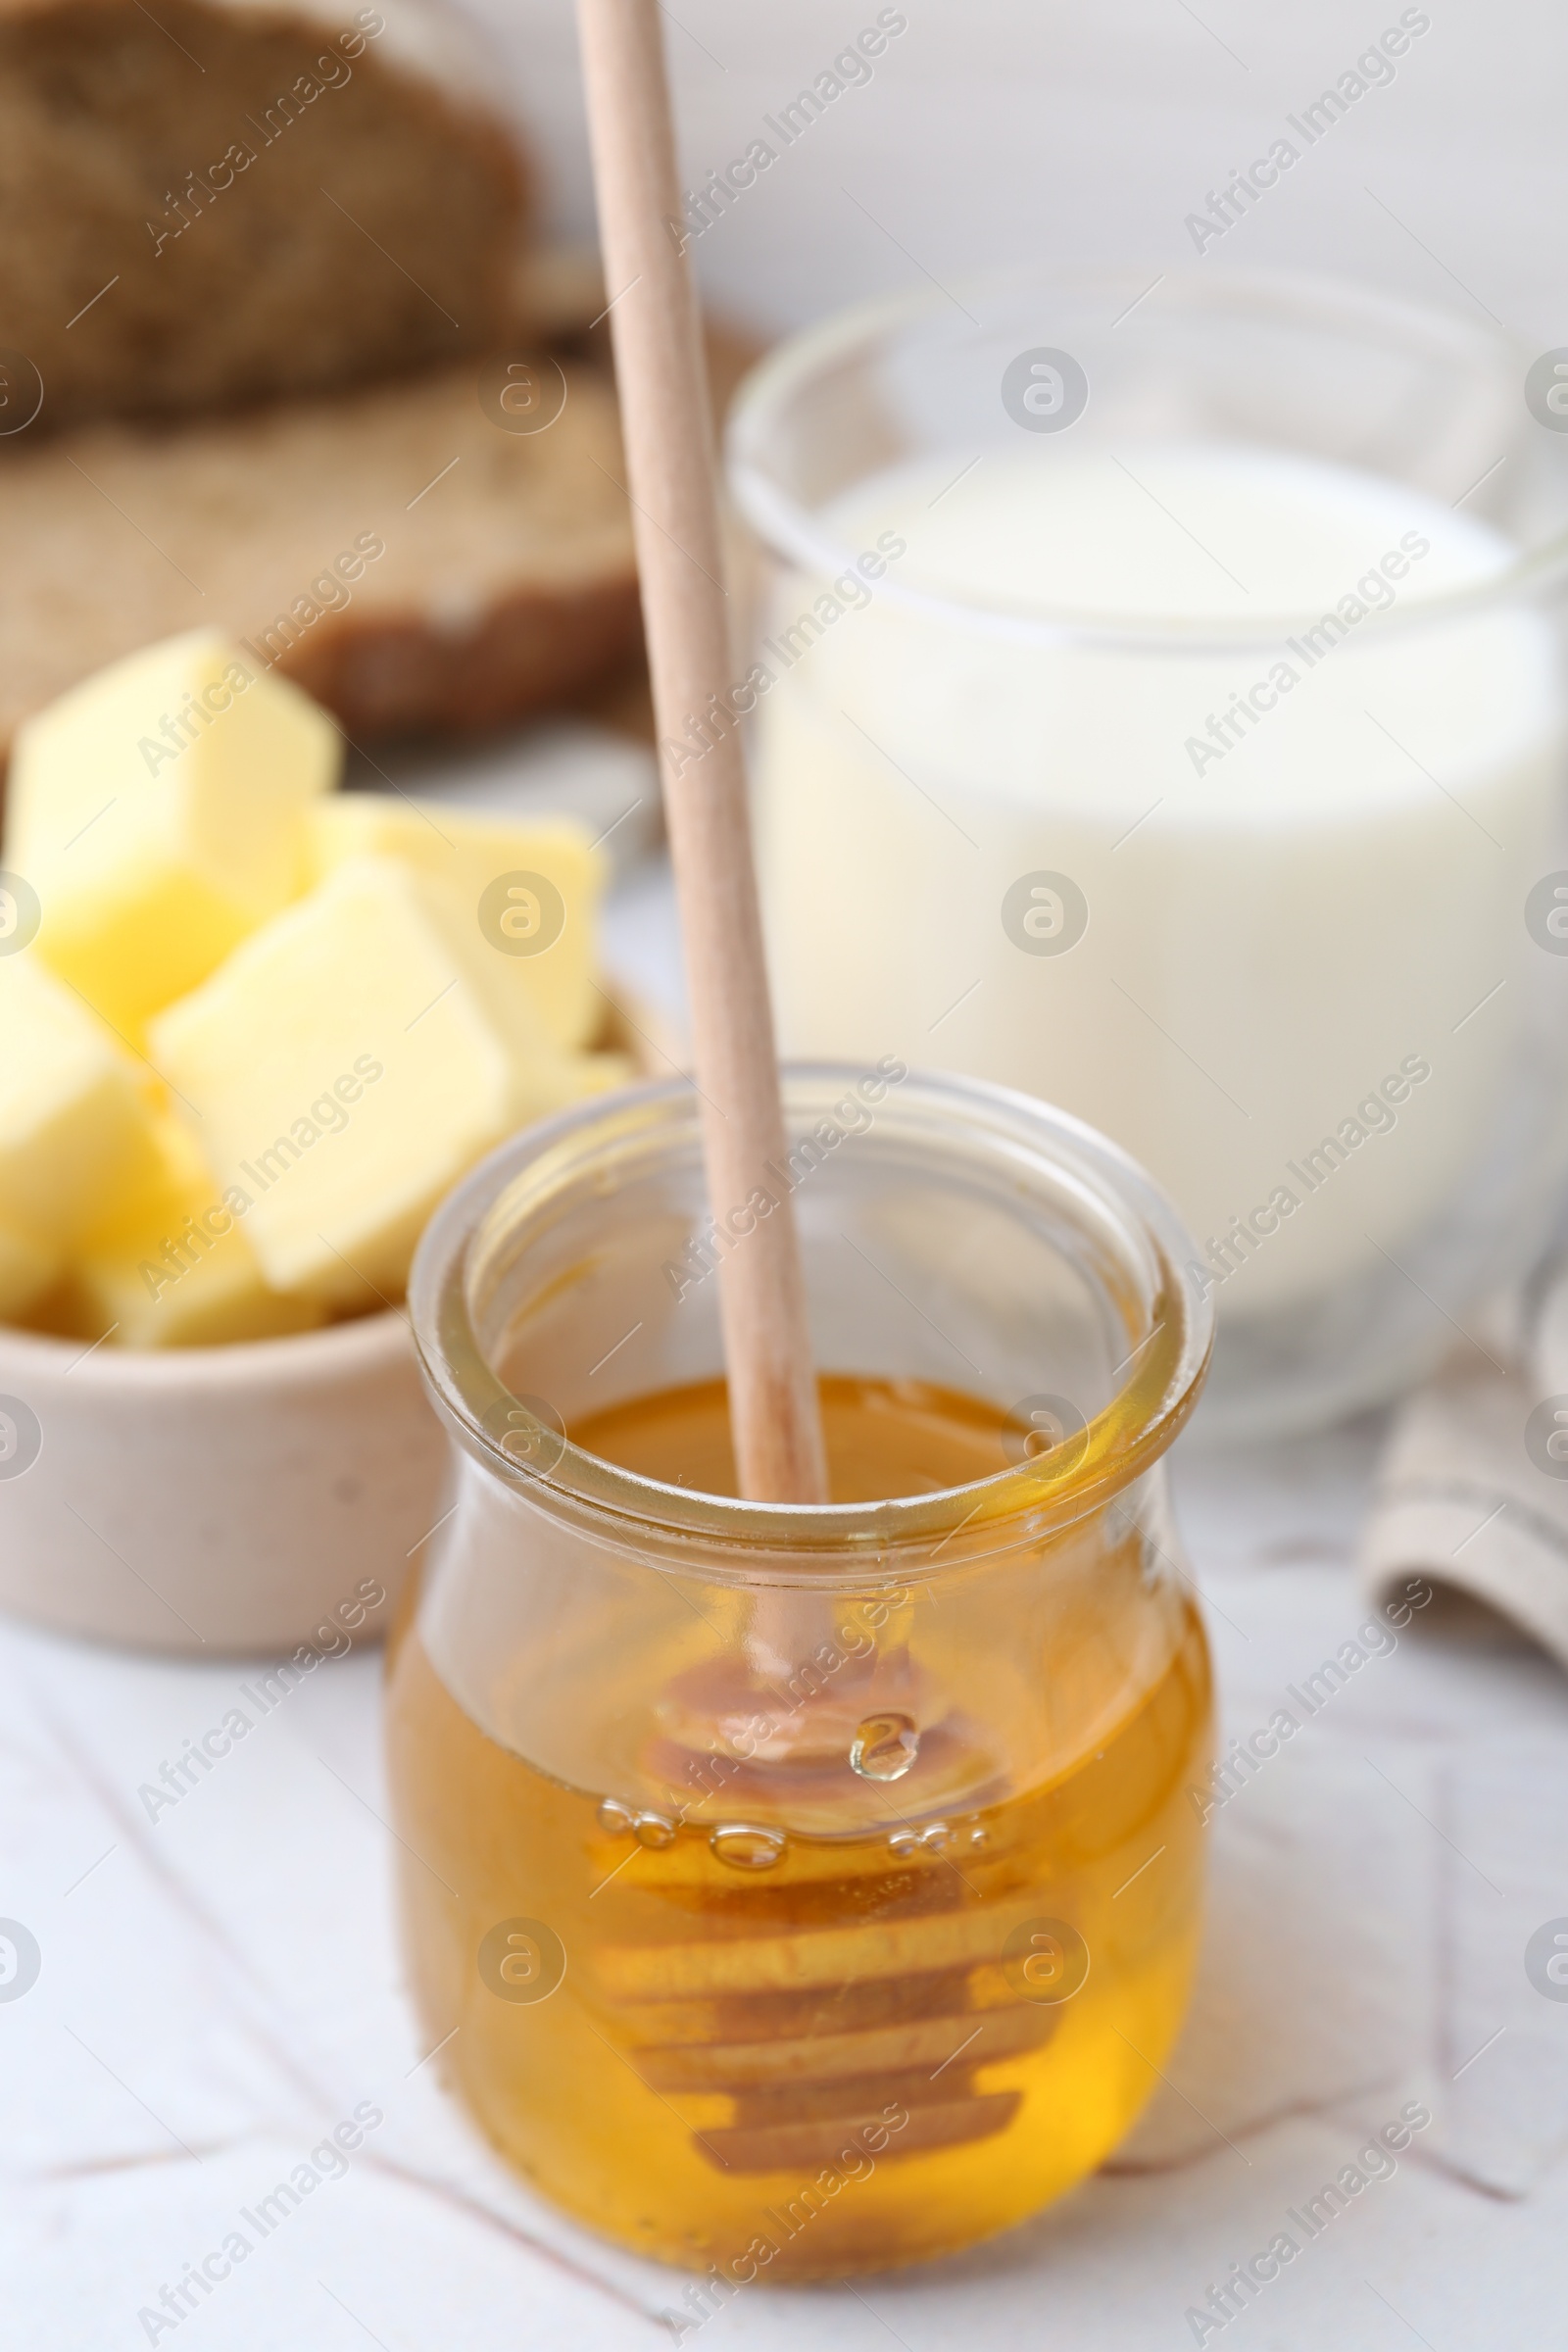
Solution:
<svg viewBox="0 0 1568 2352">
<path fill-rule="evenodd" d="M 557 708 L 639 642 L 614 388 L 548 376 L 496 421 L 494 369 L 284 402 L 230 423 L 92 426 L 0 466 L 0 746 L 155 637 L 244 637 L 350 739 Z"/>
</svg>

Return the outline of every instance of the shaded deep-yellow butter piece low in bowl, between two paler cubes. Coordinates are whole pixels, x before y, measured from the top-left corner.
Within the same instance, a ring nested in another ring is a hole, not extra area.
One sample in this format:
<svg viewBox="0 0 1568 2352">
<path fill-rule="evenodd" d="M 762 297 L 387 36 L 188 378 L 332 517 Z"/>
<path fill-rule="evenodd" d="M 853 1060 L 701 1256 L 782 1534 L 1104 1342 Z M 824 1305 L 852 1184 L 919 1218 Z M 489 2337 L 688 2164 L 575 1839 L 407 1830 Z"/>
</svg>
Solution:
<svg viewBox="0 0 1568 2352">
<path fill-rule="evenodd" d="M 223 1200 L 188 1129 L 158 1122 L 160 1185 L 78 1254 L 54 1329 L 118 1348 L 216 1348 L 310 1331 L 324 1308 L 268 1289 L 244 1218 Z"/>
</svg>

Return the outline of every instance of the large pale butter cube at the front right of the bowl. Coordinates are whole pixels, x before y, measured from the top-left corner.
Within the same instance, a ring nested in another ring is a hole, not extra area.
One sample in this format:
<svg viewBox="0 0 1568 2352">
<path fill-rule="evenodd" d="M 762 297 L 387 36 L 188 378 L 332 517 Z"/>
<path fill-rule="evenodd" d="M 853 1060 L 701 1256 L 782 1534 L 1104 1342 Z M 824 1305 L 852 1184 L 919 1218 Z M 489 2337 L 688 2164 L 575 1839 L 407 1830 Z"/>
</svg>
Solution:
<svg viewBox="0 0 1568 2352">
<path fill-rule="evenodd" d="M 430 1209 L 482 1152 L 621 1084 L 621 1056 L 564 1054 L 501 962 L 456 891 L 350 858 L 153 1021 L 273 1289 L 397 1298 Z"/>
</svg>

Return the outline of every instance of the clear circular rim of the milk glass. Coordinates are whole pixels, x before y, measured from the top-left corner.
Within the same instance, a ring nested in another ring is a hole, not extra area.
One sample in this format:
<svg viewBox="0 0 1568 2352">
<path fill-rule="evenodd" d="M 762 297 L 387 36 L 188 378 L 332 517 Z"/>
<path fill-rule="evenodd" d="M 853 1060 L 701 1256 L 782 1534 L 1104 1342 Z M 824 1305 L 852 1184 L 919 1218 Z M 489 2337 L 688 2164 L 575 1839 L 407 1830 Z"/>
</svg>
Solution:
<svg viewBox="0 0 1568 2352">
<path fill-rule="evenodd" d="M 1060 263 L 1056 268 L 997 268 L 971 280 L 959 280 L 957 292 L 917 289 L 877 296 L 839 310 L 813 327 L 802 329 L 778 343 L 745 376 L 733 397 L 729 428 L 724 435 L 726 473 L 731 494 L 766 548 L 809 576 L 832 579 L 856 564 L 856 548 L 823 529 L 813 510 L 804 506 L 778 480 L 769 452 L 778 445 L 778 419 L 790 400 L 813 376 L 842 365 L 856 348 L 872 348 L 903 327 L 926 318 L 940 318 L 954 303 L 973 318 L 976 310 L 1018 296 L 1072 296 L 1100 292 L 1107 306 L 1107 322 L 1119 325 L 1117 310 L 1145 308 L 1147 315 L 1173 308 L 1213 306 L 1218 310 L 1248 313 L 1272 310 L 1281 320 L 1298 325 L 1321 325 L 1326 329 L 1375 332 L 1385 341 L 1394 334 L 1410 346 L 1425 346 L 1436 360 L 1467 350 L 1490 355 L 1497 374 L 1512 374 L 1523 386 L 1523 374 L 1533 353 L 1507 329 L 1483 327 L 1448 310 L 1441 303 L 1422 303 L 1408 296 L 1385 294 L 1352 280 L 1309 270 L 1274 268 L 1180 268 L 1166 270 L 1152 285 L 1135 268 L 1107 268 L 1095 263 Z M 1126 308 L 1124 308 L 1126 301 Z M 1093 402 L 1093 388 L 1091 388 Z M 1476 489 L 1479 485 L 1469 485 Z M 1469 492 L 1465 492 L 1469 496 Z M 1481 581 L 1448 588 L 1439 595 L 1410 597 L 1371 612 L 1359 626 L 1363 640 L 1378 635 L 1408 635 L 1448 621 L 1486 614 L 1500 604 L 1540 600 L 1561 588 L 1568 579 L 1568 529 L 1521 548 L 1516 560 Z M 1056 604 L 1032 604 L 1009 597 L 957 597 L 936 588 L 922 588 L 896 579 L 891 572 L 877 579 L 875 595 L 886 597 L 905 612 L 947 628 L 961 628 L 1011 642 L 1041 644 L 1051 649 L 1081 649 L 1103 654 L 1229 654 L 1258 647 L 1284 644 L 1321 621 L 1321 609 L 1255 614 L 1246 621 L 1225 616 L 1159 616 L 1126 614 L 1105 616 L 1098 612 L 1074 612 Z"/>
</svg>

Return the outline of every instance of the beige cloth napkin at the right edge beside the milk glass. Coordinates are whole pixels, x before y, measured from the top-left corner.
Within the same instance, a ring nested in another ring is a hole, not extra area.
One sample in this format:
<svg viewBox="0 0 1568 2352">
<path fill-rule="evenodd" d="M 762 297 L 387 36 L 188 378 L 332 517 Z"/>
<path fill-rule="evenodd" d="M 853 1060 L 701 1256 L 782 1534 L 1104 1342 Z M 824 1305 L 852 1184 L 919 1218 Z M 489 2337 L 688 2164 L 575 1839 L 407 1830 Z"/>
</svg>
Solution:
<svg viewBox="0 0 1568 2352">
<path fill-rule="evenodd" d="M 1361 1578 L 1382 1602 L 1413 1573 L 1502 1611 L 1568 1668 L 1563 1256 L 1476 1324 L 1394 1421 Z"/>
</svg>

